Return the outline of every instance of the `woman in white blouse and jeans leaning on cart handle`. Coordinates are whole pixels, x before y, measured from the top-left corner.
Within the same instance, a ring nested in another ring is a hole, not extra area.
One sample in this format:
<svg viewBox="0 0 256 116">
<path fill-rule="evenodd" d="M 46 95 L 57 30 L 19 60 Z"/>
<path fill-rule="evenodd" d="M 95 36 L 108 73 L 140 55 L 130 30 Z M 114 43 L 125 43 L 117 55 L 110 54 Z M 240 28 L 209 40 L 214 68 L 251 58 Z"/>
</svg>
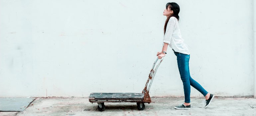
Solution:
<svg viewBox="0 0 256 116">
<path fill-rule="evenodd" d="M 189 59 L 190 52 L 181 36 L 181 31 L 179 27 L 179 12 L 180 6 L 177 3 L 167 3 L 166 9 L 164 9 L 163 15 L 167 17 L 164 27 L 164 40 L 162 52 L 157 52 L 159 59 L 165 56 L 168 45 L 173 49 L 174 54 L 177 56 L 178 68 L 183 82 L 183 89 L 185 95 L 185 102 L 175 109 L 191 109 L 190 105 L 190 86 L 197 89 L 205 97 L 206 105 L 204 108 L 208 107 L 211 103 L 214 95 L 209 94 L 200 84 L 193 80 L 190 76 L 189 71 Z"/>
</svg>

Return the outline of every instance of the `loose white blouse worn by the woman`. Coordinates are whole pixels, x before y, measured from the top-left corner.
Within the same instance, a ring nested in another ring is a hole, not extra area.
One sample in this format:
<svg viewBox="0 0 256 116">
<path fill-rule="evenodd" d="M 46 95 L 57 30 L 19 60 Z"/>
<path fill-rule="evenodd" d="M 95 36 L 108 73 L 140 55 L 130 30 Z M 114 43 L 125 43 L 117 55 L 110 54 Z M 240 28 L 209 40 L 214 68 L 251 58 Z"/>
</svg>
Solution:
<svg viewBox="0 0 256 116">
<path fill-rule="evenodd" d="M 183 43 L 184 39 L 181 37 L 181 30 L 178 19 L 171 17 L 168 21 L 166 32 L 163 39 L 164 43 L 168 43 L 169 46 L 176 52 L 183 54 L 190 54 L 187 44 Z"/>
</svg>

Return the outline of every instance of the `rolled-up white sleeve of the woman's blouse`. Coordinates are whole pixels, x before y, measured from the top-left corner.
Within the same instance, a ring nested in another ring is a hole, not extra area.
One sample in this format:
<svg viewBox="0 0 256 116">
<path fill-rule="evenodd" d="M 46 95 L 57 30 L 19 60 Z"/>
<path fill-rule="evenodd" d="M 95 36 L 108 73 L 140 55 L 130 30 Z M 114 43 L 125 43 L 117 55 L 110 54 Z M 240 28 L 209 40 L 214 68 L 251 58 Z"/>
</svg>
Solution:
<svg viewBox="0 0 256 116">
<path fill-rule="evenodd" d="M 164 43 L 171 44 L 173 30 L 174 30 L 174 26 L 175 26 L 175 19 L 174 18 L 175 17 L 171 17 L 168 21 L 166 31 L 165 31 L 165 35 L 164 35 L 163 45 L 164 45 Z"/>
</svg>

